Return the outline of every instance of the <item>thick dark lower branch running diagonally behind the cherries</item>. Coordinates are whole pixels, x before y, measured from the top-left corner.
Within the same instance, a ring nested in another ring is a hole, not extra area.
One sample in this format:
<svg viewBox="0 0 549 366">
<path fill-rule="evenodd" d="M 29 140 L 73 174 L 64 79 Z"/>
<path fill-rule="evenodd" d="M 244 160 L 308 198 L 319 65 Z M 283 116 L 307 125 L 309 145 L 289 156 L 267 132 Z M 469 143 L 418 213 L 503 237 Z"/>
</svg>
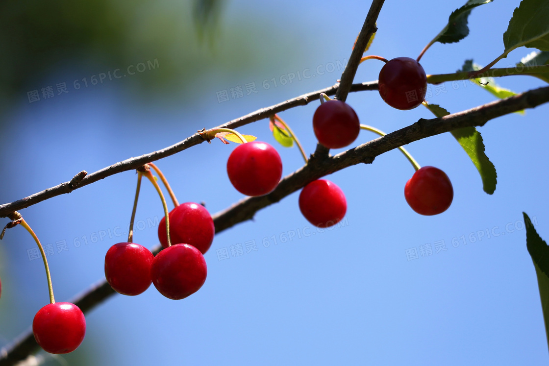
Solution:
<svg viewBox="0 0 549 366">
<path fill-rule="evenodd" d="M 383 137 L 358 145 L 354 149 L 346 150 L 335 156 L 311 159 L 305 166 L 285 176 L 270 194 L 245 198 L 212 216 L 216 234 L 253 218 L 257 211 L 280 201 L 304 187 L 307 183 L 327 174 L 360 163 L 371 164 L 376 156 L 426 137 L 462 127 L 484 126 L 489 120 L 526 108 L 535 108 L 548 102 L 549 87 L 538 88 L 441 118 L 420 119 L 410 126 L 388 133 Z M 154 247 L 154 254 L 158 253 L 160 249 L 160 245 Z M 115 291 L 106 280 L 102 280 L 74 300 L 71 300 L 71 302 L 86 313 L 113 294 L 115 294 Z M 12 345 L 0 351 L 0 366 L 13 365 L 25 359 L 37 347 L 32 330 L 27 330 Z"/>
</svg>

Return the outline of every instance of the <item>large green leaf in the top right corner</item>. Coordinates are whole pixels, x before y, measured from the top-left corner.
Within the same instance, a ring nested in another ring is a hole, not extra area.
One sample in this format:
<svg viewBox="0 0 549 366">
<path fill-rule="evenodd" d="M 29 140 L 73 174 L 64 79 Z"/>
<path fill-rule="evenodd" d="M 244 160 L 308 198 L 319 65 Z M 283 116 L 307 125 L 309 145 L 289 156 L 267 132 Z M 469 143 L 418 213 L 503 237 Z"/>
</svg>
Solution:
<svg viewBox="0 0 549 366">
<path fill-rule="evenodd" d="M 503 33 L 503 45 L 506 54 L 522 46 L 549 51 L 549 0 L 522 0 Z"/>
</svg>

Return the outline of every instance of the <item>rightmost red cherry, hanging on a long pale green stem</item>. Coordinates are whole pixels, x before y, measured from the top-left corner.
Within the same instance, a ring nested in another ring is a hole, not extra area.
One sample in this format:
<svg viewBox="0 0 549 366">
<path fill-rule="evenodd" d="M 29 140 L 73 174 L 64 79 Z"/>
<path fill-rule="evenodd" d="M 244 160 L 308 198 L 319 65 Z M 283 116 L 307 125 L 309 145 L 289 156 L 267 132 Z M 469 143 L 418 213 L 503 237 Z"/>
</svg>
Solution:
<svg viewBox="0 0 549 366">
<path fill-rule="evenodd" d="M 424 166 L 406 182 L 404 196 L 408 205 L 417 213 L 438 215 L 452 203 L 452 183 L 439 168 Z"/>
</svg>

